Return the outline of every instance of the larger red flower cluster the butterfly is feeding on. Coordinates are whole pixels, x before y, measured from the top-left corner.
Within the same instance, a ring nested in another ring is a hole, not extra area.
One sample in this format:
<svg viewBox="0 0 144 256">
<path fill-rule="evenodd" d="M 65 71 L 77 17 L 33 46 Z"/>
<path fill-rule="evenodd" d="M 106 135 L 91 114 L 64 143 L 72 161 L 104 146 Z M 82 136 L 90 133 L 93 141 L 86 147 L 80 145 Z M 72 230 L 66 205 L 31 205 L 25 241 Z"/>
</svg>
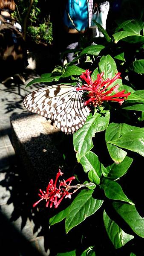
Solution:
<svg viewBox="0 0 144 256">
<path fill-rule="evenodd" d="M 85 105 L 92 105 L 94 107 L 101 106 L 104 101 L 116 101 L 120 103 L 120 105 L 124 102 L 124 99 L 130 95 L 130 93 L 124 93 L 125 90 L 118 92 L 119 85 L 116 84 L 115 86 L 108 89 L 108 87 L 118 78 L 121 78 L 121 73 L 118 72 L 112 79 L 107 78 L 105 81 L 102 78 L 104 72 L 97 75 L 97 79 L 93 82 L 90 77 L 89 70 L 82 73 L 80 76 L 86 84 L 78 87 L 76 90 L 87 90 L 89 94 L 87 95 L 88 100 L 86 100 Z M 115 94 L 109 95 L 112 92 Z M 109 96 L 108 96 L 109 95 Z"/>
</svg>

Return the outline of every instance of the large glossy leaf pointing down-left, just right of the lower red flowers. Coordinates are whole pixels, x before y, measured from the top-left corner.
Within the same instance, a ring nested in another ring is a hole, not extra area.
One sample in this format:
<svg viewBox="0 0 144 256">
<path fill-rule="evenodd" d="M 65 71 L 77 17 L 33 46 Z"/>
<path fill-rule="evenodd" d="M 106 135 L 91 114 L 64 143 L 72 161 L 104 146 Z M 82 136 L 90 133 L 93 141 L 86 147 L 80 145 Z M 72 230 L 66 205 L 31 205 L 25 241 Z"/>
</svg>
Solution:
<svg viewBox="0 0 144 256">
<path fill-rule="evenodd" d="M 66 233 L 94 214 L 103 204 L 102 200 L 92 197 L 93 190 L 83 189 L 69 207 L 65 221 Z"/>
</svg>

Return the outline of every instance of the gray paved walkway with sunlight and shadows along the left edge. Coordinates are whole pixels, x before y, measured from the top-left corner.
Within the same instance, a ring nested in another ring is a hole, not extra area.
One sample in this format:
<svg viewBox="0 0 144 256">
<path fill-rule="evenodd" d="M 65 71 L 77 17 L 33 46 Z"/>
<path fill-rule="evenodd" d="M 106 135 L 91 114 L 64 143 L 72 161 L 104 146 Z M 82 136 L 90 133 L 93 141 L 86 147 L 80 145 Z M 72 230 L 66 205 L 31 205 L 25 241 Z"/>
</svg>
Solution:
<svg viewBox="0 0 144 256">
<path fill-rule="evenodd" d="M 37 77 L 26 75 L 25 85 Z M 12 146 L 10 116 L 22 113 L 23 97 L 40 85 L 26 88 L 0 84 L 0 256 L 49 255 L 44 244 L 43 221 L 32 210 L 33 199 L 23 174 L 23 166 Z M 48 227 L 47 227 L 48 228 Z"/>
</svg>

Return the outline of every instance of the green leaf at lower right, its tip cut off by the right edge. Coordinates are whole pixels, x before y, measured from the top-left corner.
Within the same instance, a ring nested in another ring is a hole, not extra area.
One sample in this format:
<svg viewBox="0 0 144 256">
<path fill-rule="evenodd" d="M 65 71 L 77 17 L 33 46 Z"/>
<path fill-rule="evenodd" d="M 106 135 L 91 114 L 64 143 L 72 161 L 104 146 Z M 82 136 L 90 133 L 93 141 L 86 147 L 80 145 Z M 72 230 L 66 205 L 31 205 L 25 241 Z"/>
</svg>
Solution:
<svg viewBox="0 0 144 256">
<path fill-rule="evenodd" d="M 135 206 L 122 202 L 113 202 L 112 205 L 133 232 L 144 238 L 144 218 L 141 218 Z"/>
</svg>

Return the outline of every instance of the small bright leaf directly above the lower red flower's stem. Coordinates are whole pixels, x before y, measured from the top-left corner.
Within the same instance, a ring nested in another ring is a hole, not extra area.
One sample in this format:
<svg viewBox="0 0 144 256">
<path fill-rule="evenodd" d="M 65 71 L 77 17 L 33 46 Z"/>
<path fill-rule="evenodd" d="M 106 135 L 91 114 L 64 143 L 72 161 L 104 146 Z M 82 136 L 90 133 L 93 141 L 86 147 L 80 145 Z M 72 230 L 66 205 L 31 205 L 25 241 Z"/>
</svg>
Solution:
<svg viewBox="0 0 144 256">
<path fill-rule="evenodd" d="M 92 151 L 89 151 L 80 160 L 81 165 L 84 168 L 84 172 L 89 172 L 89 180 L 95 184 L 100 183 L 101 168 L 98 157 Z"/>
</svg>

